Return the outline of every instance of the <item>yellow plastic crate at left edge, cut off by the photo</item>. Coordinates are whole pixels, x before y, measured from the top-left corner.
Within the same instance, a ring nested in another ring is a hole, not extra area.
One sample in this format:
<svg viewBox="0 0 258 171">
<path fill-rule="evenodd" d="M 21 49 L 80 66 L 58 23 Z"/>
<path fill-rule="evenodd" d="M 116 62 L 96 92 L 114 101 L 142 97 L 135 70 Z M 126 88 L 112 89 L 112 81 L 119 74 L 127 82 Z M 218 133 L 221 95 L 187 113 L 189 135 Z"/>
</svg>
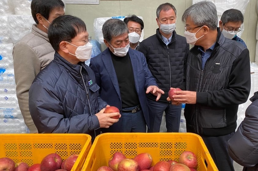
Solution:
<svg viewBox="0 0 258 171">
<path fill-rule="evenodd" d="M 90 146 L 88 134 L 0 134 L 0 158 L 9 157 L 29 166 L 40 163 L 50 153 L 59 154 L 63 160 L 79 154 L 71 171 L 80 171 Z"/>
</svg>

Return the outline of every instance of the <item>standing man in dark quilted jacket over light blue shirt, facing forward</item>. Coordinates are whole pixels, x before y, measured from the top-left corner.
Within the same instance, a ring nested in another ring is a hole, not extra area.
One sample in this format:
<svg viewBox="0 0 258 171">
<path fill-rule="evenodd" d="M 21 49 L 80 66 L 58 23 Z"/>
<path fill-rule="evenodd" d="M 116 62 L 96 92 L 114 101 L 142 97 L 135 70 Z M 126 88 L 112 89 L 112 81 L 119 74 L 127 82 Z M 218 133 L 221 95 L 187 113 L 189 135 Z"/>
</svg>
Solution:
<svg viewBox="0 0 258 171">
<path fill-rule="evenodd" d="M 170 3 L 159 5 L 156 11 L 158 29 L 156 34 L 143 40 L 138 48 L 145 57 L 153 77 L 165 95 L 157 102 L 148 94 L 150 128 L 148 132 L 159 132 L 162 115 L 166 114 L 167 132 L 179 132 L 181 105 L 172 105 L 166 100 L 170 87 L 183 81 L 184 59 L 189 51 L 186 38 L 175 32 L 176 9 Z"/>
</svg>

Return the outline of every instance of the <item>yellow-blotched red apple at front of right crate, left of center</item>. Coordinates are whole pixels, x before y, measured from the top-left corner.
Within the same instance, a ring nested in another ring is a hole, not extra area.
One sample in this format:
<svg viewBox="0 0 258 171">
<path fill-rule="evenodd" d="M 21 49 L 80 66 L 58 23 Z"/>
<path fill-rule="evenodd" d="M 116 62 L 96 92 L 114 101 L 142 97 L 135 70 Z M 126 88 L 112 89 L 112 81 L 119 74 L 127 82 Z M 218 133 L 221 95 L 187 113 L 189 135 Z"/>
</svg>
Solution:
<svg viewBox="0 0 258 171">
<path fill-rule="evenodd" d="M 139 171 L 138 163 L 133 159 L 123 159 L 117 166 L 118 171 Z"/>
</svg>

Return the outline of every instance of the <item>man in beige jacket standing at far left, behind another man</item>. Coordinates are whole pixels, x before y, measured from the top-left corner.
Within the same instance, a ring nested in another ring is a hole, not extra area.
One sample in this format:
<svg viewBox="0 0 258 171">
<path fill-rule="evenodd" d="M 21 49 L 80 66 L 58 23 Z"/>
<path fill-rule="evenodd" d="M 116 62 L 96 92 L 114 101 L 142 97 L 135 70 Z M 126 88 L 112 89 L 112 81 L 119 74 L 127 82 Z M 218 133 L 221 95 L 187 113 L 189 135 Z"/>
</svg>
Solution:
<svg viewBox="0 0 258 171">
<path fill-rule="evenodd" d="M 37 133 L 28 106 L 29 89 L 36 75 L 53 60 L 54 49 L 49 43 L 47 29 L 53 19 L 64 15 L 61 0 L 32 0 L 31 14 L 36 24 L 31 33 L 13 47 L 13 65 L 19 107 L 30 133 Z"/>
</svg>

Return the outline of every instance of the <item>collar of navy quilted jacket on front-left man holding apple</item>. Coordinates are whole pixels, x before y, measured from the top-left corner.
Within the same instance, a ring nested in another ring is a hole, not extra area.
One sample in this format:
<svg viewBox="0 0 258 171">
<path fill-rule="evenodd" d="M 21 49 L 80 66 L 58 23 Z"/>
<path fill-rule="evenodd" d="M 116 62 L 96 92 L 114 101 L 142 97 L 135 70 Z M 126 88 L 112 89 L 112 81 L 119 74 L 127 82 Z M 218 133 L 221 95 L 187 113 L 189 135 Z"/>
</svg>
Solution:
<svg viewBox="0 0 258 171">
<path fill-rule="evenodd" d="M 84 62 L 79 62 L 78 64 L 74 65 L 70 62 L 66 61 L 64 58 L 60 56 L 57 52 L 54 54 L 53 62 L 56 63 L 58 66 L 65 68 L 69 72 L 72 72 L 73 74 L 80 74 L 80 70 L 82 67 L 82 70 L 87 70 Z"/>
</svg>

